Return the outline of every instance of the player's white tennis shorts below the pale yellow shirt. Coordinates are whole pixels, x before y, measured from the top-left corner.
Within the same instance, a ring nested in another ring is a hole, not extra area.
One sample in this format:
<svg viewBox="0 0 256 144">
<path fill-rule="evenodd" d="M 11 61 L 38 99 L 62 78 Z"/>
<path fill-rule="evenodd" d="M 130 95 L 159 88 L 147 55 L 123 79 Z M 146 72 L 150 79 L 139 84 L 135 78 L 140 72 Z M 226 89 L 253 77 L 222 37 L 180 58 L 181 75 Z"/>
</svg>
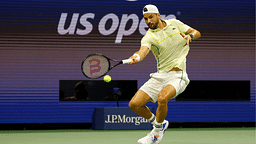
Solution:
<svg viewBox="0 0 256 144">
<path fill-rule="evenodd" d="M 148 94 L 155 103 L 159 92 L 168 84 L 176 89 L 177 97 L 181 94 L 189 84 L 190 80 L 186 71 L 170 71 L 167 73 L 151 73 L 150 79 L 141 86 L 140 90 Z"/>
</svg>

